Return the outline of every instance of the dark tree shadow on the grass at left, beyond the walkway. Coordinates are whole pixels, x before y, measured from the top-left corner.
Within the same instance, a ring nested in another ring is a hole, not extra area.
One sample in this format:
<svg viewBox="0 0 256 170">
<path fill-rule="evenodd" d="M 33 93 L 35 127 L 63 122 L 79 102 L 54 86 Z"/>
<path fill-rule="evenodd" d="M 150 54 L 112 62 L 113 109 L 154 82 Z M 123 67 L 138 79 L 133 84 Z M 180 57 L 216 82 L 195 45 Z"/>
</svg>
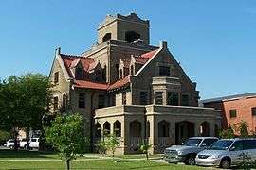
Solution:
<svg viewBox="0 0 256 170">
<path fill-rule="evenodd" d="M 55 152 L 27 151 L 27 150 L 0 150 L 0 158 L 23 159 L 23 158 L 57 158 Z"/>
</svg>

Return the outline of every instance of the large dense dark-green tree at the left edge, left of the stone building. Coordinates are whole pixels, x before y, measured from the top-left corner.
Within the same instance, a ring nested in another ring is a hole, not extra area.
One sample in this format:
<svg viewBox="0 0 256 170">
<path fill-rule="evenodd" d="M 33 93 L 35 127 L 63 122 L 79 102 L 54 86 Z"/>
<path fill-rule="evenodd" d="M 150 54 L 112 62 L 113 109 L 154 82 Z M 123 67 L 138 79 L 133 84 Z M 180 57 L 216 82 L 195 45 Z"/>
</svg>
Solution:
<svg viewBox="0 0 256 170">
<path fill-rule="evenodd" d="M 48 77 L 40 74 L 9 76 L 1 81 L 0 128 L 12 129 L 14 139 L 20 128 L 42 130 L 42 117 L 48 112 L 52 95 L 50 87 Z"/>
</svg>

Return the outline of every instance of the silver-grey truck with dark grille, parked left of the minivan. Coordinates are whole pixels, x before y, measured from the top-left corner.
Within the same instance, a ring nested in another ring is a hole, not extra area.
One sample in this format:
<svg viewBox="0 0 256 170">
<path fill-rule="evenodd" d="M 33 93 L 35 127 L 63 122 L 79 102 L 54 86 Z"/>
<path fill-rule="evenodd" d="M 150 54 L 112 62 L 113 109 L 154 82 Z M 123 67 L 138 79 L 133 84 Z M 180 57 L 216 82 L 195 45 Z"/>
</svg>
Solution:
<svg viewBox="0 0 256 170">
<path fill-rule="evenodd" d="M 195 164 L 196 154 L 214 142 L 216 137 L 192 137 L 182 145 L 173 145 L 165 149 L 164 160 L 168 162 L 184 162 L 185 164 Z"/>
</svg>

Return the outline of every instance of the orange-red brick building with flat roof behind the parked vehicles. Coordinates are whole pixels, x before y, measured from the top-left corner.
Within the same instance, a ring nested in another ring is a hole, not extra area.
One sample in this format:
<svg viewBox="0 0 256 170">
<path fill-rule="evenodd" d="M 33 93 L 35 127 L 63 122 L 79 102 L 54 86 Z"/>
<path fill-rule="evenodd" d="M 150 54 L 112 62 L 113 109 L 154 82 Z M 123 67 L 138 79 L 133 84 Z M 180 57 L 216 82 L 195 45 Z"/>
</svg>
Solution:
<svg viewBox="0 0 256 170">
<path fill-rule="evenodd" d="M 200 101 L 204 107 L 222 110 L 222 127 L 246 121 L 256 131 L 256 93 L 244 93 Z"/>
</svg>

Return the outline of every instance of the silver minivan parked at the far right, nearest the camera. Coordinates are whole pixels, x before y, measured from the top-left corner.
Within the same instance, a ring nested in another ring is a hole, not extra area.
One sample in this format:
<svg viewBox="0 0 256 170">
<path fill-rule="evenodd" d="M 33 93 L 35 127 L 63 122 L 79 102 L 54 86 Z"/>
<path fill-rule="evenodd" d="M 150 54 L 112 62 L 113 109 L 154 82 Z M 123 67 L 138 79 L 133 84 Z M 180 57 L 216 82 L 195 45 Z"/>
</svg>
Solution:
<svg viewBox="0 0 256 170">
<path fill-rule="evenodd" d="M 225 169 L 240 165 L 245 160 L 256 161 L 256 138 L 219 140 L 207 150 L 199 152 L 195 159 L 197 165 L 220 166 Z"/>
</svg>

